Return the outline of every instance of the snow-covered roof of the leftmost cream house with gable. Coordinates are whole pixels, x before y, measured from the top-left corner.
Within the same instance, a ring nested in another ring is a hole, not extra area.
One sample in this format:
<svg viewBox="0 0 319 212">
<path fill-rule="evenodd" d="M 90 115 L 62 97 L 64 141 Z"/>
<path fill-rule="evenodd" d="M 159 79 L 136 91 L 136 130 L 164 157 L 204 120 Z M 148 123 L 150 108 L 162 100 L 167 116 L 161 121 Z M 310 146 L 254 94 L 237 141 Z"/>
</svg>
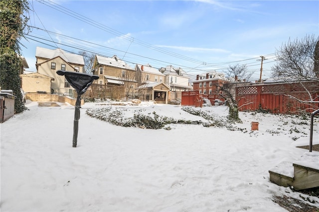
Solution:
<svg viewBox="0 0 319 212">
<path fill-rule="evenodd" d="M 35 57 L 52 59 L 55 57 L 61 57 L 68 63 L 85 65 L 82 55 L 68 53 L 62 49 L 46 49 L 42 47 L 36 47 Z"/>
</svg>

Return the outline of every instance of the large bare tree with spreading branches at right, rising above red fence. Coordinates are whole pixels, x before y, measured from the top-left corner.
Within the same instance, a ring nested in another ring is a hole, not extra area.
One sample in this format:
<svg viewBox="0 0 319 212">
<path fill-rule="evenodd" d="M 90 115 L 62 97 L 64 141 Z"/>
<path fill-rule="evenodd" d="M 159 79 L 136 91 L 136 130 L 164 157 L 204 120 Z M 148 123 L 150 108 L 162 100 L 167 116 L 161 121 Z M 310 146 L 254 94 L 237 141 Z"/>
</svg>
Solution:
<svg viewBox="0 0 319 212">
<path fill-rule="evenodd" d="M 299 87 L 299 92 L 307 94 L 300 97 L 288 92 L 285 96 L 300 103 L 319 103 L 315 95 L 319 84 L 319 36 L 306 35 L 294 41 L 289 39 L 279 48 L 276 60 L 277 64 L 272 67 L 273 77 L 284 82 L 299 83 L 300 86 L 294 87 Z"/>
</svg>

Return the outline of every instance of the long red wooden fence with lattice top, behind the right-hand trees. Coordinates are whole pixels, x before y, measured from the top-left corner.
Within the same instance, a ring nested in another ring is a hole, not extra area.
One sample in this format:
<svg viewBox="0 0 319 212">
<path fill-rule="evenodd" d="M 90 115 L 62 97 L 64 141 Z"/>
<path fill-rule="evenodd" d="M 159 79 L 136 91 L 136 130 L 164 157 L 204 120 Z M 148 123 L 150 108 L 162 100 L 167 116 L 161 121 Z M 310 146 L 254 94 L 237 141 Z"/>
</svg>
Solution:
<svg viewBox="0 0 319 212">
<path fill-rule="evenodd" d="M 319 101 L 318 82 L 253 84 L 236 88 L 241 111 L 263 108 L 274 113 L 313 112 L 319 108 L 319 103 L 310 103 L 311 99 Z"/>
</svg>

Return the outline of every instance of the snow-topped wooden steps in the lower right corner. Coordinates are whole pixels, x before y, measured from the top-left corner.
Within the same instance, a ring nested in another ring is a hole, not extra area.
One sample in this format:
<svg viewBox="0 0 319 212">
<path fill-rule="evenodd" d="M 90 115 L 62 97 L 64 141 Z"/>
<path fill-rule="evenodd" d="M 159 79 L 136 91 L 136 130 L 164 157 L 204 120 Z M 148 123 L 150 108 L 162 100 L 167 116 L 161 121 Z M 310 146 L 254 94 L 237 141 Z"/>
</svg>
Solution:
<svg viewBox="0 0 319 212">
<path fill-rule="evenodd" d="M 282 162 L 269 170 L 270 181 L 279 185 L 291 186 L 295 190 L 319 187 L 319 155 L 312 155 L 311 161 L 300 160 L 295 163 Z"/>
</svg>

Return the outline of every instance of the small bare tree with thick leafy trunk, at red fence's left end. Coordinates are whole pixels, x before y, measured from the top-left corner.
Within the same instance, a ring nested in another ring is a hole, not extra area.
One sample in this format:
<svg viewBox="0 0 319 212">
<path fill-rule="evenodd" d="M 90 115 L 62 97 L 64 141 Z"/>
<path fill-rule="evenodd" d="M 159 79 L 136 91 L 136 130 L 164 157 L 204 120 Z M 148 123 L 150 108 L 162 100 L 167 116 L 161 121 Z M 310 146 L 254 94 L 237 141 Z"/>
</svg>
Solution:
<svg viewBox="0 0 319 212">
<path fill-rule="evenodd" d="M 226 74 L 228 81 L 219 85 L 220 96 L 229 104 L 228 119 L 236 122 L 241 122 L 238 112 L 238 101 L 236 101 L 236 88 L 238 84 L 247 83 L 253 72 L 247 71 L 246 65 L 229 66 Z"/>
</svg>

